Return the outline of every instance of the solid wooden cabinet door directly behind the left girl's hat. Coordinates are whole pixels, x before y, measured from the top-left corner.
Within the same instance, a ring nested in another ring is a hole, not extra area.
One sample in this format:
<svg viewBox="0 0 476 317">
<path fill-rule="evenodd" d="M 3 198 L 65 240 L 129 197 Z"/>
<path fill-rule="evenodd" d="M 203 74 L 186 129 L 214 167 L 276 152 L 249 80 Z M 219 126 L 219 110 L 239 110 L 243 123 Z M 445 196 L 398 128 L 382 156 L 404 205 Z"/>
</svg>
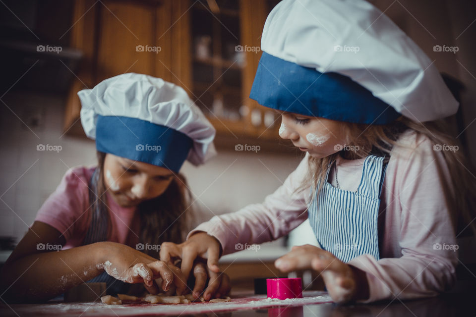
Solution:
<svg viewBox="0 0 476 317">
<path fill-rule="evenodd" d="M 76 93 L 126 72 L 190 89 L 188 0 L 76 0 L 71 46 L 84 53 L 68 94 L 64 131 L 84 135 Z"/>
</svg>

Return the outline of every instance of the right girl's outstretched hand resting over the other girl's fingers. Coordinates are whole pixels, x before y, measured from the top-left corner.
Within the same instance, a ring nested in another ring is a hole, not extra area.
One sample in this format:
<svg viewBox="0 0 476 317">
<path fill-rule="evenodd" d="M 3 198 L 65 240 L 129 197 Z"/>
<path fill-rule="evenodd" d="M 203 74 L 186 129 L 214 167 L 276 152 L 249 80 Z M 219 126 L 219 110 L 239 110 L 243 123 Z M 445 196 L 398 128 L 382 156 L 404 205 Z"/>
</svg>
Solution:
<svg viewBox="0 0 476 317">
<path fill-rule="evenodd" d="M 218 267 L 218 259 L 220 259 L 220 242 L 206 232 L 198 232 L 188 238 L 181 244 L 172 242 L 164 242 L 160 247 L 160 259 L 164 262 L 171 263 L 172 258 L 180 258 L 182 270 L 185 279 L 193 267 L 193 263 L 197 257 L 203 259 L 208 258 L 208 268 L 215 273 L 220 271 Z M 212 277 L 212 276 L 210 276 Z"/>
</svg>

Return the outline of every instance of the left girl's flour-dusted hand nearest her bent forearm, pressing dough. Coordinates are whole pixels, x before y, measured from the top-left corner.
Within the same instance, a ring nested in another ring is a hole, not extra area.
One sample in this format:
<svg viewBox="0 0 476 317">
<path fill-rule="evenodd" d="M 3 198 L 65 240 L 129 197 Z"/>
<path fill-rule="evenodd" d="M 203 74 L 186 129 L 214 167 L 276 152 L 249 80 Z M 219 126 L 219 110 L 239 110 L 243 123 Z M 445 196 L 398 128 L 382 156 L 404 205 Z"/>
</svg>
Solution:
<svg viewBox="0 0 476 317">
<path fill-rule="evenodd" d="M 145 288 L 152 294 L 159 293 L 154 281 L 162 278 L 162 290 L 168 291 L 175 284 L 177 294 L 181 295 L 187 287 L 180 269 L 168 265 L 164 261 L 156 260 L 145 253 L 132 249 L 126 245 L 114 242 L 104 242 L 104 257 L 99 268 L 116 279 L 127 283 L 144 283 Z"/>
</svg>

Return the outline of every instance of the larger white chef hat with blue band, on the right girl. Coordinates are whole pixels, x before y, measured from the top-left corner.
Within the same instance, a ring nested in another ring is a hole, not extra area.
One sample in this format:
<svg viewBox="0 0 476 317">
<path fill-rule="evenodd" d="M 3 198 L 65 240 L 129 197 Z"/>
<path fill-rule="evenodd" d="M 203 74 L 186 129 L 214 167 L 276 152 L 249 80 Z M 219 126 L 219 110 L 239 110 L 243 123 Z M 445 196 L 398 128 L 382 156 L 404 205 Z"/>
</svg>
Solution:
<svg viewBox="0 0 476 317">
<path fill-rule="evenodd" d="M 458 109 L 433 62 L 364 0 L 283 0 L 261 50 L 250 98 L 262 106 L 367 124 Z"/>
</svg>

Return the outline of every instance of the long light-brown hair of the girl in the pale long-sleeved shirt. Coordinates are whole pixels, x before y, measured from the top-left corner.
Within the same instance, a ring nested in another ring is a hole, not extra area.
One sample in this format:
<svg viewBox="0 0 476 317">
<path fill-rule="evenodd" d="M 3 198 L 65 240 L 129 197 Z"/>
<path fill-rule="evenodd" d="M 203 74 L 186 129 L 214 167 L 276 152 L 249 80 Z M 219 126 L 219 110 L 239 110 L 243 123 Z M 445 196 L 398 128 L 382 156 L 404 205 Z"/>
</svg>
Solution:
<svg viewBox="0 0 476 317">
<path fill-rule="evenodd" d="M 346 159 L 365 158 L 369 154 L 387 154 L 395 147 L 406 147 L 399 142 L 399 137 L 404 132 L 415 132 L 426 136 L 434 145 L 458 146 L 459 151 L 441 151 L 451 175 L 451 181 L 444 184 L 446 201 L 452 209 L 452 220 L 457 235 L 462 231 L 469 233 L 468 228 L 473 230 L 476 236 L 476 184 L 471 175 L 475 175 L 474 167 L 467 153 L 458 139 L 449 135 L 448 125 L 443 120 L 418 123 L 404 116 L 399 117 L 388 125 L 368 125 L 343 122 L 343 132 L 347 135 L 346 145 L 354 146 L 358 151 L 343 151 L 328 157 L 317 159 L 308 158 L 309 173 L 306 175 L 302 186 L 298 190 L 311 187 L 313 193 L 319 194 L 324 184 L 328 168 L 340 155 Z M 356 137 L 357 136 L 357 137 Z M 442 166 L 438 166 L 438 173 L 444 179 Z M 451 195 L 450 193 L 455 193 Z M 314 197 L 314 196 L 313 196 Z"/>
</svg>

